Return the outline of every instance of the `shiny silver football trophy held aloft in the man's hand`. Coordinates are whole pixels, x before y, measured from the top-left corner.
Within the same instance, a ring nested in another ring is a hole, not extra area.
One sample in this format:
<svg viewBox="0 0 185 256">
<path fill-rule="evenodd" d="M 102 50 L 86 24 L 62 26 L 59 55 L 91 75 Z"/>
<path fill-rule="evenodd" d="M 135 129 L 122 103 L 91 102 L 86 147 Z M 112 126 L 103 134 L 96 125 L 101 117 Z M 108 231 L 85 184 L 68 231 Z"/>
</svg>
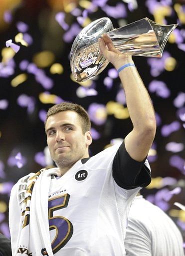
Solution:
<svg viewBox="0 0 185 256">
<path fill-rule="evenodd" d="M 85 81 L 102 72 L 109 60 L 100 53 L 98 38 L 107 33 L 121 52 L 147 57 L 162 57 L 165 44 L 178 24 L 158 24 L 142 18 L 115 28 L 108 17 L 96 19 L 76 36 L 70 52 L 70 65 L 77 81 Z"/>
</svg>

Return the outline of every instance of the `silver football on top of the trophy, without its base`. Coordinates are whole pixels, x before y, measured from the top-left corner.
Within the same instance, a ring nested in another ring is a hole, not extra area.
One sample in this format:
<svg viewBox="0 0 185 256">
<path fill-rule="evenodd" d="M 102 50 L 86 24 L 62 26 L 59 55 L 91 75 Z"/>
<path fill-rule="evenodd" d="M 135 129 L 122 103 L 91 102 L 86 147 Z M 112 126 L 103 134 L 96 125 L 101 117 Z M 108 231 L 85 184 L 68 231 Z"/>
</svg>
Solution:
<svg viewBox="0 0 185 256">
<path fill-rule="evenodd" d="M 70 65 L 77 81 L 89 79 L 95 72 L 99 74 L 108 65 L 109 61 L 100 53 L 98 38 L 113 29 L 112 21 L 104 17 L 85 26 L 76 36 L 70 52 Z"/>
</svg>

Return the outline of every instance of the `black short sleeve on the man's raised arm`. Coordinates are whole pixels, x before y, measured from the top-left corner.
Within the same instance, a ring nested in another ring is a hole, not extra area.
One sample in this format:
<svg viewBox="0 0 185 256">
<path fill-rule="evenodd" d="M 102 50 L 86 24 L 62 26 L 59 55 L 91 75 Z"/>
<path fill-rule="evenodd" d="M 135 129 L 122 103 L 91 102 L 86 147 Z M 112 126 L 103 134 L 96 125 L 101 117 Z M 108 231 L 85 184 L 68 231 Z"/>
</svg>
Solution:
<svg viewBox="0 0 185 256">
<path fill-rule="evenodd" d="M 145 159 L 141 162 L 134 160 L 127 152 L 123 141 L 113 160 L 113 178 L 116 183 L 125 189 L 149 185 L 151 172 L 144 162 Z"/>
</svg>

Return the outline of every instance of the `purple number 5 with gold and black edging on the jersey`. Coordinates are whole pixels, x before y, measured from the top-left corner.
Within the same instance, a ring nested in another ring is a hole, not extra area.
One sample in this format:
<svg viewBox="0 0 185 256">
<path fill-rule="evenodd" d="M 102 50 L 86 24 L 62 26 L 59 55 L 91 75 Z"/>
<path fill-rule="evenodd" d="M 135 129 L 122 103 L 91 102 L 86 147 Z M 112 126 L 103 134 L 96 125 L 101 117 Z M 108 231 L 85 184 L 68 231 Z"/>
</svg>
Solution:
<svg viewBox="0 0 185 256">
<path fill-rule="evenodd" d="M 61 249 L 73 234 L 73 225 L 67 218 L 62 216 L 53 217 L 55 210 L 67 207 L 69 197 L 69 194 L 63 194 L 48 200 L 49 230 L 56 230 L 56 236 L 51 242 L 53 253 Z"/>
</svg>

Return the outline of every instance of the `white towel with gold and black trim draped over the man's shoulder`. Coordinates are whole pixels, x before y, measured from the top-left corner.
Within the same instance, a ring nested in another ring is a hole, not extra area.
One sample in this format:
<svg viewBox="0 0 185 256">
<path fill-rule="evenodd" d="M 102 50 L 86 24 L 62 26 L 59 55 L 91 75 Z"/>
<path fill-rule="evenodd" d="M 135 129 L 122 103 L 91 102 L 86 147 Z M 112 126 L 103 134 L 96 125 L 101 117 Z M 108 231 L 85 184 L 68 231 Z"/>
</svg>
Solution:
<svg viewBox="0 0 185 256">
<path fill-rule="evenodd" d="M 40 256 L 42 255 L 41 249 L 47 251 L 46 255 L 53 256 L 48 221 L 48 192 L 52 174 L 60 175 L 59 169 L 41 169 L 37 173 L 32 173 L 27 180 L 21 212 L 19 208 L 19 214 L 21 214 L 19 232 L 16 234 L 17 238 L 13 237 L 13 256 Z M 19 185 L 17 184 L 16 187 L 18 188 Z M 14 225 L 16 221 L 14 214 L 17 212 L 14 207 L 19 207 L 18 203 L 14 201 L 17 192 L 17 189 L 14 190 L 10 196 L 9 226 L 11 234 L 17 232 L 16 225 Z"/>
</svg>

